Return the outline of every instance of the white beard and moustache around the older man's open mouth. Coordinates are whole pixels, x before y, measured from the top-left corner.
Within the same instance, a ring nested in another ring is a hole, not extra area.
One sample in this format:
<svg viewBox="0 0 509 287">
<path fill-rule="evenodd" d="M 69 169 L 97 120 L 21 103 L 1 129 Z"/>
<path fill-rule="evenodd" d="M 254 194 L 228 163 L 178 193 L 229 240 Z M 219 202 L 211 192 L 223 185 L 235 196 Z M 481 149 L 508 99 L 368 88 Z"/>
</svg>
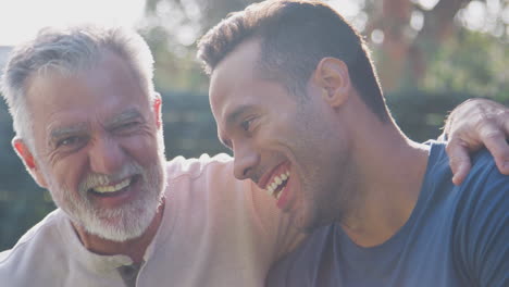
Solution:
<svg viewBox="0 0 509 287">
<path fill-rule="evenodd" d="M 165 188 L 162 159 L 146 170 L 132 162 L 114 175 L 90 174 L 79 184 L 78 195 L 53 180 L 49 180 L 49 189 L 55 204 L 87 233 L 112 241 L 126 241 L 141 236 L 147 230 L 161 204 Z M 137 198 L 123 207 L 101 209 L 87 198 L 90 184 L 101 183 L 103 179 L 114 182 L 136 174 L 141 176 L 141 190 L 137 192 Z"/>
</svg>

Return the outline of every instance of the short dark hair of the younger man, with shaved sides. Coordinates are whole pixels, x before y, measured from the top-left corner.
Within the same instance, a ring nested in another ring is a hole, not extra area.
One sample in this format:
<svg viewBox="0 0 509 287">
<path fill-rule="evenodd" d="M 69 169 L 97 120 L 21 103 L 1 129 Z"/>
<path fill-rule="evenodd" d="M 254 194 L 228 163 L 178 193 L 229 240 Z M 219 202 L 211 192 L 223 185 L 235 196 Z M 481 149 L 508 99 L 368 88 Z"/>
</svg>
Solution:
<svg viewBox="0 0 509 287">
<path fill-rule="evenodd" d="M 229 14 L 198 43 L 198 58 L 211 74 L 241 42 L 258 38 L 260 74 L 281 82 L 296 95 L 323 58 L 340 59 L 365 104 L 388 118 L 382 89 L 362 37 L 336 11 L 320 1 L 275 0 Z"/>
</svg>

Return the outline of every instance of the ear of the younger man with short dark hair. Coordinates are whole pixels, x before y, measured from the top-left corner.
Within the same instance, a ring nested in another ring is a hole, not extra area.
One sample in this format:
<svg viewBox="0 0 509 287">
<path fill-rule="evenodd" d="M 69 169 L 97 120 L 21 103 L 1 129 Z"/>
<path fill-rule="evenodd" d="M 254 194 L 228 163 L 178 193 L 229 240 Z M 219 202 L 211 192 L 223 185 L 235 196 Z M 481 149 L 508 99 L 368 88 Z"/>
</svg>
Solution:
<svg viewBox="0 0 509 287">
<path fill-rule="evenodd" d="M 342 60 L 331 57 L 323 58 L 316 65 L 314 82 L 322 89 L 323 99 L 334 108 L 347 100 L 351 88 L 348 66 Z"/>
</svg>

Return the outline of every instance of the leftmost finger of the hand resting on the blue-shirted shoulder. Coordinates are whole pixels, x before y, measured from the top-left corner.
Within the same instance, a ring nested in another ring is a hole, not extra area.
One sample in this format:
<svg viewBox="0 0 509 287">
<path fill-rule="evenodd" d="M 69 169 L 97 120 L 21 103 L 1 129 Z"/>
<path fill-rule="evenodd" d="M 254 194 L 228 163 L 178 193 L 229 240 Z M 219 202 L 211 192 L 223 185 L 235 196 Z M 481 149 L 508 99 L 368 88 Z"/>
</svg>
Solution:
<svg viewBox="0 0 509 287">
<path fill-rule="evenodd" d="M 471 167 L 469 150 L 461 140 L 451 140 L 447 144 L 446 151 L 449 155 L 449 165 L 452 171 L 452 183 L 460 185 Z"/>
</svg>

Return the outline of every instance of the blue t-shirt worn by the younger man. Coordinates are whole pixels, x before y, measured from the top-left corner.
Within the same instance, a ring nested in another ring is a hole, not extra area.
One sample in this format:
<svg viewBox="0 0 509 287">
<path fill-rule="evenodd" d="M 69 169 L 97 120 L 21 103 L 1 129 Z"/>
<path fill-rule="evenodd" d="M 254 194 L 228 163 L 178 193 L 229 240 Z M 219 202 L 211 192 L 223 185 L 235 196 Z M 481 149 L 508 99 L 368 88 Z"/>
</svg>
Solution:
<svg viewBox="0 0 509 287">
<path fill-rule="evenodd" d="M 418 202 L 384 244 L 362 248 L 338 224 L 316 229 L 271 270 L 281 286 L 509 286 L 509 176 L 483 150 L 461 186 L 432 142 Z"/>
</svg>

